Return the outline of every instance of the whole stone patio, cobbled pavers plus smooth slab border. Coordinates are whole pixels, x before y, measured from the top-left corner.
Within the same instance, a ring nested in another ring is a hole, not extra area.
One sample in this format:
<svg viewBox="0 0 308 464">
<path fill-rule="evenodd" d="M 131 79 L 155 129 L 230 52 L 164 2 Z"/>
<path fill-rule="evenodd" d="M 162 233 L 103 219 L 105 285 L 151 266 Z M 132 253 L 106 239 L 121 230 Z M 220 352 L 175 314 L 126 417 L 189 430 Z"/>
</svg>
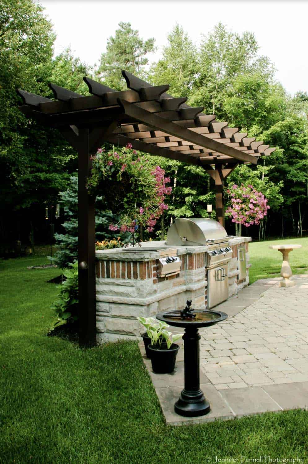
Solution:
<svg viewBox="0 0 308 464">
<path fill-rule="evenodd" d="M 200 329 L 200 383 L 211 404 L 206 416 L 174 412 L 184 385 L 183 349 L 173 374 L 154 374 L 139 345 L 167 424 L 308 407 L 308 275 L 293 276 L 291 288 L 279 287 L 279 280 L 241 290 L 213 308 L 226 312 L 226 321 Z"/>
</svg>

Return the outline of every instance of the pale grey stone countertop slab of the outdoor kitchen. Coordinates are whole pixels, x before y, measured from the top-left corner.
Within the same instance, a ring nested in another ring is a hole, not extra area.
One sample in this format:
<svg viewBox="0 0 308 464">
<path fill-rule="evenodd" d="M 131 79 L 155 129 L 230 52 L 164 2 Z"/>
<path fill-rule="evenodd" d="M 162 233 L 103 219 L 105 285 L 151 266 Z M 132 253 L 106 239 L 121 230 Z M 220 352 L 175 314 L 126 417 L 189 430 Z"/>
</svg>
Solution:
<svg viewBox="0 0 308 464">
<path fill-rule="evenodd" d="M 251 237 L 234 237 L 229 239 L 229 245 L 239 245 L 243 242 L 251 242 Z M 188 255 L 195 253 L 204 253 L 209 251 L 209 246 L 212 245 L 192 245 L 178 246 L 166 245 L 165 240 L 156 240 L 151 242 L 143 242 L 141 247 L 128 248 L 113 248 L 111 250 L 97 250 L 95 252 L 96 259 L 113 260 L 113 261 L 151 261 L 160 258 L 159 251 L 168 248 L 176 249 L 177 255 Z M 217 244 L 219 247 L 219 244 Z M 152 250 L 151 250 L 152 248 Z"/>
</svg>

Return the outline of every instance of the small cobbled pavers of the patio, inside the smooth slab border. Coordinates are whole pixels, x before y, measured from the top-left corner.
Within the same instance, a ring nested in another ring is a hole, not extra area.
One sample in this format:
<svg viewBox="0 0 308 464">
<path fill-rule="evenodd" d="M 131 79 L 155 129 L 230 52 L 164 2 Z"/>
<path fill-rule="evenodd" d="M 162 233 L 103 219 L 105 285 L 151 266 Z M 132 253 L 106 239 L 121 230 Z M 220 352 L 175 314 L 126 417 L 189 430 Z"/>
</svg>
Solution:
<svg viewBox="0 0 308 464">
<path fill-rule="evenodd" d="M 214 386 L 234 388 L 242 382 L 243 387 L 253 387 L 308 380 L 308 275 L 293 279 L 296 285 L 288 289 L 278 287 L 279 279 L 258 281 L 239 292 L 243 297 L 216 306 L 227 312 L 226 304 L 231 308 L 240 304 L 238 300 L 247 304 L 253 300 L 235 316 L 229 315 L 225 322 L 212 327 L 210 334 L 202 332 L 201 370 L 215 372 L 211 380 Z M 211 356 L 205 358 L 205 353 Z M 240 368 L 239 379 L 222 382 L 226 368 L 231 370 L 223 362 Z"/>
</svg>

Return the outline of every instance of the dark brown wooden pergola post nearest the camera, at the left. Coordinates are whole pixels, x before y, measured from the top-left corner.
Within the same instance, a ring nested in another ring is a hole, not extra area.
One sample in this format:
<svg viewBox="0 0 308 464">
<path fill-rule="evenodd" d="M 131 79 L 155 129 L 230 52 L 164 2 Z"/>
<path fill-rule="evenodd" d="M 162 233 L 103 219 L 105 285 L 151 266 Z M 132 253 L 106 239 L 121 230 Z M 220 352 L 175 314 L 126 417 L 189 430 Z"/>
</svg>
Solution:
<svg viewBox="0 0 308 464">
<path fill-rule="evenodd" d="M 96 345 L 95 197 L 88 194 L 89 129 L 78 136 L 78 277 L 79 345 Z"/>
</svg>

